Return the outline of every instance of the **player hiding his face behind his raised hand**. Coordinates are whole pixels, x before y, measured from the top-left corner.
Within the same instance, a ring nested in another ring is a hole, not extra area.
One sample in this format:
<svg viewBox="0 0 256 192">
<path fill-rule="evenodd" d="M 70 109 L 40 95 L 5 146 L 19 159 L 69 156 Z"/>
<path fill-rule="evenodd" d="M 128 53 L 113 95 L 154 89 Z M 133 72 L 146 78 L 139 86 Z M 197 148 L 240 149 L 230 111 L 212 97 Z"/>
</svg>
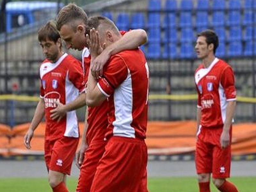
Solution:
<svg viewBox="0 0 256 192">
<path fill-rule="evenodd" d="M 91 17 L 86 36 L 91 54 L 121 38 L 115 24 L 105 17 Z M 97 30 L 97 32 L 95 31 Z M 93 42 L 96 42 L 96 46 Z M 95 55 L 96 55 L 95 54 Z M 93 65 L 92 54 L 91 65 Z M 107 145 L 95 173 L 91 192 L 146 192 L 148 114 L 148 64 L 137 48 L 110 57 L 98 82 L 89 72 L 86 103 L 94 107 L 108 98 Z"/>
</svg>

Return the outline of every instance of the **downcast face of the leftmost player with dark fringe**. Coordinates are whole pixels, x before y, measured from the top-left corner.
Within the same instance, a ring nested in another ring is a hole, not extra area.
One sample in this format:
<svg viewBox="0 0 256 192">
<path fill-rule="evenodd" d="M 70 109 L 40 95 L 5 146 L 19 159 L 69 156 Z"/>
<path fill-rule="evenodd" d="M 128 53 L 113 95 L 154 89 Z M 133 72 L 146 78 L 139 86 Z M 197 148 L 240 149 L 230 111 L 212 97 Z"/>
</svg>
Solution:
<svg viewBox="0 0 256 192">
<path fill-rule="evenodd" d="M 58 41 L 55 43 L 47 38 L 46 41 L 41 41 L 40 45 L 43 49 L 45 57 L 48 60 L 55 62 L 58 59 L 61 45 L 60 39 L 58 39 Z"/>
</svg>

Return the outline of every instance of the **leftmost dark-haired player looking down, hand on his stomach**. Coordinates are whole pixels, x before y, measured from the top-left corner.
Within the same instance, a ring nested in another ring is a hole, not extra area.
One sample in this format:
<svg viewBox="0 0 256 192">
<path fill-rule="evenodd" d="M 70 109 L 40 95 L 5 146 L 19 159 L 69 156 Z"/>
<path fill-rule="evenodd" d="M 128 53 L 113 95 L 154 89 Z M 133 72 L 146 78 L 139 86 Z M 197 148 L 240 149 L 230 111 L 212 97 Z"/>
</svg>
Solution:
<svg viewBox="0 0 256 192">
<path fill-rule="evenodd" d="M 46 56 L 40 66 L 41 99 L 24 137 L 24 144 L 31 148 L 34 131 L 45 116 L 44 158 L 49 184 L 53 192 L 67 192 L 66 175 L 70 174 L 79 141 L 76 111 L 68 112 L 57 122 L 50 118 L 50 110 L 56 108 L 57 101 L 67 104 L 77 98 L 85 99 L 84 74 L 81 63 L 61 51 L 60 35 L 53 22 L 48 22 L 38 31 L 38 40 Z"/>
</svg>

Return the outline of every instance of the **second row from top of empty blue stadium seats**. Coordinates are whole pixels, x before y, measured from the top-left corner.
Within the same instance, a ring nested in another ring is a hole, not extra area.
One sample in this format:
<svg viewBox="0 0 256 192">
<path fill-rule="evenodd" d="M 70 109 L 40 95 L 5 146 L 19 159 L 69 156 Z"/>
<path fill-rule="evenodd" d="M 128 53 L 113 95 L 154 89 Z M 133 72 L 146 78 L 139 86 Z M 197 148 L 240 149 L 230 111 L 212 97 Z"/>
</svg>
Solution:
<svg viewBox="0 0 256 192">
<path fill-rule="evenodd" d="M 103 12 L 103 16 L 113 20 L 111 12 Z M 209 19 L 211 18 L 211 19 Z M 193 22 L 195 20 L 195 22 Z M 197 12 L 195 17 L 190 12 L 182 12 L 179 16 L 175 13 L 168 13 L 164 15 L 163 22 L 161 22 L 160 13 L 148 13 L 148 20 L 146 22 L 145 14 L 136 12 L 130 15 L 128 13 L 119 13 L 116 17 L 116 25 L 120 30 L 128 30 L 130 28 L 150 28 L 150 27 L 219 27 L 219 26 L 252 26 L 256 23 L 256 13 L 252 11 L 244 13 L 242 18 L 240 12 L 231 11 L 227 18 L 224 12 L 213 12 L 212 17 L 207 12 Z"/>
</svg>

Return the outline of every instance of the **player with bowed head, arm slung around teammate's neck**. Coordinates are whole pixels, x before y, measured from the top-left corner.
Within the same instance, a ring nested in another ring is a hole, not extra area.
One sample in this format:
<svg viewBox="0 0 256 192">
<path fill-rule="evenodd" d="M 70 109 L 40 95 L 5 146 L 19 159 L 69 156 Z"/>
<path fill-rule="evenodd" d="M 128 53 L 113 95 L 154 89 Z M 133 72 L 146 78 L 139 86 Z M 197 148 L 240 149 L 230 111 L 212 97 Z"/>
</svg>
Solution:
<svg viewBox="0 0 256 192">
<path fill-rule="evenodd" d="M 60 36 L 66 42 L 67 48 L 83 49 L 82 65 L 85 73 L 85 82 L 87 82 L 91 62 L 91 55 L 87 48 L 85 37 L 86 20 L 86 13 L 75 4 L 68 4 L 63 7 L 57 16 L 57 28 L 60 31 Z M 97 65 L 91 68 L 94 76 L 98 77 L 102 74 L 102 67 L 110 55 L 122 50 L 137 48 L 147 41 L 147 34 L 142 29 L 131 30 L 126 33 L 122 31 L 120 33 L 123 36 L 119 41 L 112 44 L 112 46 L 108 46 L 103 52 L 102 49 L 98 50 L 98 53 L 101 54 L 96 58 L 98 60 Z M 52 110 L 52 117 L 60 118 L 69 111 L 71 106 L 76 108 L 76 104 L 73 105 L 73 103 L 68 105 L 58 103 L 58 107 Z M 97 164 L 105 151 L 106 145 L 104 136 L 108 126 L 107 101 L 98 107 L 88 107 L 87 109 L 82 135 L 83 142 L 81 142 L 76 155 L 76 165 L 80 167 L 77 192 L 90 192 Z"/>
</svg>

